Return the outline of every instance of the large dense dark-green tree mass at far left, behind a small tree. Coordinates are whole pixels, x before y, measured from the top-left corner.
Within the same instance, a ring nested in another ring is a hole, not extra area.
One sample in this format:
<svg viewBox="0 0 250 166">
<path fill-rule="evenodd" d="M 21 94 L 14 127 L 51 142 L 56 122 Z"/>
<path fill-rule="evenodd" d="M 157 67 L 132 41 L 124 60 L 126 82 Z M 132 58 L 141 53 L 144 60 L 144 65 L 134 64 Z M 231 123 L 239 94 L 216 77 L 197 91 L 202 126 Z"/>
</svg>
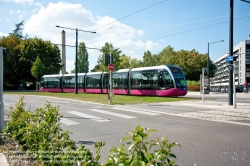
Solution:
<svg viewBox="0 0 250 166">
<path fill-rule="evenodd" d="M 37 57 L 45 66 L 44 74 L 58 74 L 60 71 L 60 50 L 50 41 L 38 38 L 22 40 L 11 34 L 1 39 L 0 45 L 9 49 L 4 62 L 4 77 L 8 84 L 14 85 L 15 88 L 22 82 L 36 81 L 31 74 L 31 67 Z"/>
</svg>

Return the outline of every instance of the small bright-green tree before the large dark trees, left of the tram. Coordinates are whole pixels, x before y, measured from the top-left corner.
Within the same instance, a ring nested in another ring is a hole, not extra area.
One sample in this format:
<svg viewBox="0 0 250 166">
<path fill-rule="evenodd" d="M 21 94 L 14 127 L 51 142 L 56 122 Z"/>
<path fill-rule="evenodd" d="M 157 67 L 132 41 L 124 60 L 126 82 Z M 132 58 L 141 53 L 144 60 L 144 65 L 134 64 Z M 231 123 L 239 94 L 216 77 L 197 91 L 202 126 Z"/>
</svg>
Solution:
<svg viewBox="0 0 250 166">
<path fill-rule="evenodd" d="M 36 61 L 33 63 L 33 66 L 31 67 L 31 74 L 36 78 L 37 82 L 39 82 L 44 73 L 45 66 L 41 59 L 37 57 Z"/>
</svg>

